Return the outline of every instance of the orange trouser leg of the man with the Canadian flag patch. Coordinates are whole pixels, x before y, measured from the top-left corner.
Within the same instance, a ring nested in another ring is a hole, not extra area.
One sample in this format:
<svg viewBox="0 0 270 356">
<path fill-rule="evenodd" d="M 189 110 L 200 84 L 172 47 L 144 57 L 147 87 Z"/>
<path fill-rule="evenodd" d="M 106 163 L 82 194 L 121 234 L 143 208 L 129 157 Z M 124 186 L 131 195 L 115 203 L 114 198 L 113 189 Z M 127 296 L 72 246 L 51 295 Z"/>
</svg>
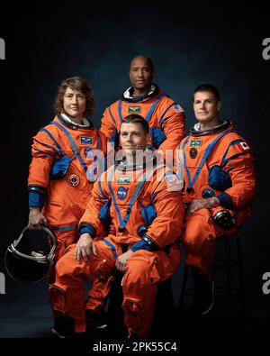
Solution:
<svg viewBox="0 0 270 356">
<path fill-rule="evenodd" d="M 239 223 L 243 218 L 239 216 L 238 224 L 229 230 L 220 229 L 211 221 L 220 207 L 208 210 L 200 209 L 186 217 L 185 230 L 182 236 L 184 249 L 187 253 L 186 264 L 198 269 L 202 274 L 211 278 L 211 266 L 214 260 L 212 242 L 221 236 L 232 236 L 238 232 Z"/>
</svg>

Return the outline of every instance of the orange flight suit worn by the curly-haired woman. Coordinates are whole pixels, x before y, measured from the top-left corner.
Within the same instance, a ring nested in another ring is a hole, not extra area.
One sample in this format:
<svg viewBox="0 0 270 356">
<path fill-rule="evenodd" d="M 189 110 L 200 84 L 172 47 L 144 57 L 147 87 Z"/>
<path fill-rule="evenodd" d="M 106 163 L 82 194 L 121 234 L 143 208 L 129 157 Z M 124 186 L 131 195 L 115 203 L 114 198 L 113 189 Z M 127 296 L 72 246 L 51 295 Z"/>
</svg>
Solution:
<svg viewBox="0 0 270 356">
<path fill-rule="evenodd" d="M 68 134 L 76 145 L 77 154 L 68 140 Z M 101 151 L 100 154 L 106 151 L 103 133 L 96 130 L 92 123 L 89 127 L 67 124 L 60 114 L 33 137 L 28 190 L 30 194 L 38 192 L 39 201 L 31 201 L 30 205 L 41 208 L 44 204 L 41 213 L 58 239 L 57 257 L 70 243 L 77 241 L 77 224 L 85 212 L 97 177 L 94 173 L 98 174 L 94 171 L 96 160 L 91 153 L 99 151 L 94 150 Z M 53 164 L 66 155 L 70 159 L 67 173 L 63 178 L 52 178 Z"/>
</svg>

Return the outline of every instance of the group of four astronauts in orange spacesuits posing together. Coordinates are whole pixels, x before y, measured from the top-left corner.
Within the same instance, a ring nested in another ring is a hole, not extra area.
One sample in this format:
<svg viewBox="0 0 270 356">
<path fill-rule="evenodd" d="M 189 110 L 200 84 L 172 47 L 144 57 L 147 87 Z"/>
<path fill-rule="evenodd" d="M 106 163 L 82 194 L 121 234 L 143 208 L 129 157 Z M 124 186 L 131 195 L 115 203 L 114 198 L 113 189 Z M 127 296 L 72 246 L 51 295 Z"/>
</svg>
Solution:
<svg viewBox="0 0 270 356">
<path fill-rule="evenodd" d="M 29 228 L 46 224 L 57 236 L 49 301 L 60 337 L 70 321 L 75 334 L 85 333 L 86 312 L 103 308 L 118 269 L 128 337 L 147 338 L 157 287 L 179 265 L 179 242 L 212 293 L 212 242 L 238 233 L 250 216 L 254 156 L 219 118 L 218 89 L 194 90 L 197 123 L 185 132 L 183 108 L 153 75 L 151 59 L 131 60 L 131 87 L 105 109 L 100 130 L 89 120 L 91 87 L 84 78 L 63 80 L 55 118 L 33 137 Z M 85 279 L 93 279 L 86 301 Z M 203 295 L 198 303 L 202 314 L 210 308 Z"/>
</svg>

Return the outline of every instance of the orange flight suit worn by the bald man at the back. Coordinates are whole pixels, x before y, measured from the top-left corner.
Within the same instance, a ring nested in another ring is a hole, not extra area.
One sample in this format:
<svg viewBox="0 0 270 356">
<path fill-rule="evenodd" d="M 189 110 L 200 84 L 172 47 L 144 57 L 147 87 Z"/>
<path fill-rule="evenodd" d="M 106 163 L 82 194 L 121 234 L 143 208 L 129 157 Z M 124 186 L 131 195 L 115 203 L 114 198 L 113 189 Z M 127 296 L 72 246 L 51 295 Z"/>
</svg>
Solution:
<svg viewBox="0 0 270 356">
<path fill-rule="evenodd" d="M 153 149 L 162 150 L 167 154 L 166 162 L 173 159 L 174 150 L 184 137 L 184 110 L 175 103 L 173 99 L 163 93 L 156 85 L 152 94 L 138 98 L 130 94 L 131 87 L 122 94 L 120 100 L 109 105 L 102 118 L 101 132 L 105 134 L 108 141 L 114 144 L 117 150 L 119 132 L 122 119 L 128 114 L 140 114 L 149 125 L 151 141 L 148 142 Z M 104 305 L 104 298 L 110 291 L 112 277 L 107 279 L 94 278 L 93 286 L 89 290 L 88 300 L 85 307 L 93 311 L 98 311 Z"/>
</svg>

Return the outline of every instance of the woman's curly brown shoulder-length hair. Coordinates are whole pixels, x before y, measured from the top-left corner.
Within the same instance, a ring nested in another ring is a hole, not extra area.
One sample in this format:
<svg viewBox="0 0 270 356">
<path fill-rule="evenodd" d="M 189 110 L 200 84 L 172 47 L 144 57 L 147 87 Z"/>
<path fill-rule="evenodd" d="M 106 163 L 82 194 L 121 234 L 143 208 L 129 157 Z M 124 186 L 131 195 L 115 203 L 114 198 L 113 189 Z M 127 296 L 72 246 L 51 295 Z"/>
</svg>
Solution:
<svg viewBox="0 0 270 356">
<path fill-rule="evenodd" d="M 82 77 L 72 77 L 62 80 L 60 86 L 58 87 L 58 93 L 54 101 L 54 112 L 59 114 L 63 112 L 63 101 L 64 95 L 66 93 L 67 87 L 73 90 L 78 90 L 85 94 L 86 105 L 85 105 L 85 116 L 91 116 L 94 112 L 94 93 L 91 87 L 89 87 L 85 78 Z"/>
</svg>

